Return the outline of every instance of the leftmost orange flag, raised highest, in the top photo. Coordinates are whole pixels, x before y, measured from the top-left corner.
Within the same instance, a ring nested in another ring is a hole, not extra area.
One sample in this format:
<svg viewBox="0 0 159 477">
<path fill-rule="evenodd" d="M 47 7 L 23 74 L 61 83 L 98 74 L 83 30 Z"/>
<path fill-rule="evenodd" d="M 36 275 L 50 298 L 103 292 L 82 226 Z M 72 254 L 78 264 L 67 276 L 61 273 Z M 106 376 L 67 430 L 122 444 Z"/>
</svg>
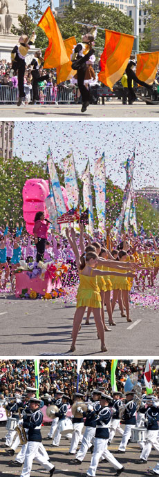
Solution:
<svg viewBox="0 0 159 477">
<path fill-rule="evenodd" d="M 69 58 L 64 41 L 50 7 L 44 12 L 38 26 L 44 30 L 46 37 L 48 37 L 48 48 L 46 48 L 44 55 L 44 68 L 57 68 L 57 66 L 68 62 Z"/>
</svg>

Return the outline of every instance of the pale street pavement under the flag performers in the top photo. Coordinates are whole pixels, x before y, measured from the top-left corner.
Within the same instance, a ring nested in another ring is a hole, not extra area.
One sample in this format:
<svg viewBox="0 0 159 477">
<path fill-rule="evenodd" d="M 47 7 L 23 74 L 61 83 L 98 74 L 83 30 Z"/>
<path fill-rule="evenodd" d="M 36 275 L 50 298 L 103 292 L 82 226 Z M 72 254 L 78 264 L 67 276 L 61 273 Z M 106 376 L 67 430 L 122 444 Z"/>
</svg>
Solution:
<svg viewBox="0 0 159 477">
<path fill-rule="evenodd" d="M 124 105 L 121 100 L 105 102 L 105 104 L 90 104 L 85 113 L 81 113 L 81 104 L 36 104 L 20 106 L 4 104 L 0 106 L 3 118 L 158 118 L 159 104 L 135 102 Z"/>
</svg>

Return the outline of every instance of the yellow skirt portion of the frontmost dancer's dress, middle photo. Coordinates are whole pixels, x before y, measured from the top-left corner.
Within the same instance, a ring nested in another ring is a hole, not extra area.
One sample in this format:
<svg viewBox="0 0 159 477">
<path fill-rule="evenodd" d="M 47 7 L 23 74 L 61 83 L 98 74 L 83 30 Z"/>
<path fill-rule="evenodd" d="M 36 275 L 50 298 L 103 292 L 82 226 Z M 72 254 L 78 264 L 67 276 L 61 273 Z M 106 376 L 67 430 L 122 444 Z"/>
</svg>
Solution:
<svg viewBox="0 0 159 477">
<path fill-rule="evenodd" d="M 77 308 L 79 308 L 79 306 L 102 308 L 100 292 L 79 288 L 77 291 Z"/>
</svg>

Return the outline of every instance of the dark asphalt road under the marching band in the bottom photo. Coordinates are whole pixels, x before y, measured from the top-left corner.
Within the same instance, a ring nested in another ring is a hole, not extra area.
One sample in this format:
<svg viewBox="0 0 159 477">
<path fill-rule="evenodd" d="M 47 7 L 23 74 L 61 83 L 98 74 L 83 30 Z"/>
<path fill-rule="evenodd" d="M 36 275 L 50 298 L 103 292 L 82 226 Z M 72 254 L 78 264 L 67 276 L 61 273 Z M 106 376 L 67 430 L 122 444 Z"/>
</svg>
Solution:
<svg viewBox="0 0 159 477">
<path fill-rule="evenodd" d="M 50 429 L 49 425 L 45 425 L 41 428 L 42 437 L 46 437 L 48 434 L 48 429 Z M 5 436 L 6 429 L 5 427 L 0 427 L 0 436 L 3 438 Z M 121 436 L 117 436 L 113 439 L 113 443 L 109 447 L 109 450 L 113 453 L 115 458 L 119 460 L 119 462 L 124 465 L 125 470 L 122 472 L 123 477 L 140 477 L 140 476 L 150 476 L 149 469 L 153 469 L 158 462 L 158 453 L 154 450 L 151 451 L 149 456 L 149 460 L 147 464 L 139 464 L 138 460 L 140 458 L 140 447 L 138 444 L 129 443 L 127 447 L 127 452 L 124 456 L 120 454 L 116 454 L 115 452 L 118 450 L 118 446 L 120 444 Z M 91 453 L 88 452 L 86 457 L 84 458 L 84 462 L 82 465 L 70 465 L 70 460 L 72 460 L 73 456 L 68 455 L 69 451 L 69 444 L 70 441 L 66 440 L 66 438 L 62 437 L 59 447 L 53 447 L 52 441 L 43 441 L 43 444 L 46 447 L 46 451 L 50 457 L 51 462 L 55 465 L 55 477 L 81 477 L 82 473 L 86 473 L 91 461 Z M 2 442 L 0 442 L 0 446 L 2 446 Z M 20 447 L 18 451 L 20 450 Z M 17 453 L 17 451 L 16 451 Z M 10 457 L 6 455 L 5 450 L 3 447 L 0 447 L 0 476 L 5 477 L 13 477 L 13 476 L 20 476 L 22 467 L 10 467 L 8 462 L 10 461 Z M 12 459 L 15 459 L 13 457 Z M 42 469 L 41 465 L 37 464 L 37 462 L 33 463 L 31 476 L 40 477 L 41 475 L 48 475 L 48 472 Z M 96 476 L 98 477 L 106 477 L 106 476 L 114 476 L 115 469 L 113 469 L 112 465 L 108 463 L 100 463 L 97 467 Z"/>
</svg>

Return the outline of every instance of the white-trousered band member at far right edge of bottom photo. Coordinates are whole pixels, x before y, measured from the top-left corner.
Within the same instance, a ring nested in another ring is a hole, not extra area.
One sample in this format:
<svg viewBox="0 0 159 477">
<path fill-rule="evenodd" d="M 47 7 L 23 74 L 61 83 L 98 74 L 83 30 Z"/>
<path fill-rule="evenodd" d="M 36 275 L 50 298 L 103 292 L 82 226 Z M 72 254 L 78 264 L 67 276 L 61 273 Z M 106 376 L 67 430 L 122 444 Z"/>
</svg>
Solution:
<svg viewBox="0 0 159 477">
<path fill-rule="evenodd" d="M 149 454 L 151 452 L 152 446 L 156 451 L 159 452 L 158 444 L 158 420 L 159 420 L 159 411 L 156 407 L 155 397 L 151 395 L 147 396 L 148 408 L 145 412 L 145 418 L 147 420 L 147 440 L 144 443 L 142 453 L 140 455 L 139 462 L 144 464 L 147 462 Z"/>
</svg>

